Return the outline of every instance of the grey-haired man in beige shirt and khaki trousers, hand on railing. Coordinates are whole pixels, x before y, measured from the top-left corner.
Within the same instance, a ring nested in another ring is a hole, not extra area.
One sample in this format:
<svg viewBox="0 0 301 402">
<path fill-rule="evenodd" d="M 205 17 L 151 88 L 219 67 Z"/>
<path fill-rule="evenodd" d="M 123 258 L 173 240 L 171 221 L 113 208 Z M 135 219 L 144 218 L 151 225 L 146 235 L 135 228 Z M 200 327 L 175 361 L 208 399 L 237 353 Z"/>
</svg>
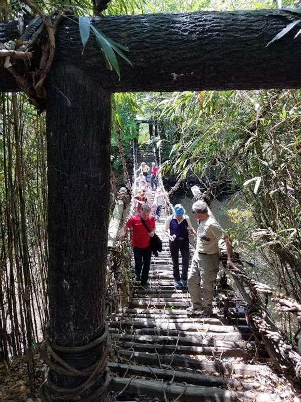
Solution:
<svg viewBox="0 0 301 402">
<path fill-rule="evenodd" d="M 220 264 L 218 242 L 223 239 L 227 248 L 227 267 L 232 262 L 232 240 L 221 228 L 216 219 L 208 214 L 207 204 L 196 201 L 192 212 L 199 221 L 196 249 L 188 274 L 188 290 L 192 305 L 187 311 L 201 311 L 200 318 L 208 318 L 212 313 L 213 283 L 217 278 Z M 203 303 L 202 303 L 203 296 Z"/>
</svg>

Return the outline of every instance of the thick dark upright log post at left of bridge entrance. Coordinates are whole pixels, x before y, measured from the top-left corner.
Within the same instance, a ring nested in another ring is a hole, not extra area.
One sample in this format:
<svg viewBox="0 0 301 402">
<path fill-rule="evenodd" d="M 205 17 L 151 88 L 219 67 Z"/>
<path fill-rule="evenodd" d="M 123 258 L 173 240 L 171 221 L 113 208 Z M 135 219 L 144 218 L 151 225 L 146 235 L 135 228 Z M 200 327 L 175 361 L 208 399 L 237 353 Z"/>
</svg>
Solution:
<svg viewBox="0 0 301 402">
<path fill-rule="evenodd" d="M 47 82 L 49 336 L 60 346 L 85 345 L 104 329 L 110 177 L 110 93 L 72 66 Z M 78 369 L 95 350 L 61 354 Z M 85 379 L 54 372 L 69 388 Z M 75 379 L 74 379 L 75 378 Z"/>
</svg>

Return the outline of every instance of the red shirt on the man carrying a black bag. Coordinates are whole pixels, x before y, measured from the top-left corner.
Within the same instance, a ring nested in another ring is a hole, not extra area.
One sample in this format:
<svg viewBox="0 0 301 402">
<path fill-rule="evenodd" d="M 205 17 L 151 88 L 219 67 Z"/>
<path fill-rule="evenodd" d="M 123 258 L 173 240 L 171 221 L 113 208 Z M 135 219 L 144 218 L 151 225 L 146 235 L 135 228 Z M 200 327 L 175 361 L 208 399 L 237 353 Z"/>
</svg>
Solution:
<svg viewBox="0 0 301 402">
<path fill-rule="evenodd" d="M 149 228 L 149 230 L 155 229 L 156 222 L 155 218 L 152 215 L 149 215 L 146 221 L 146 226 Z M 139 214 L 132 216 L 126 223 L 125 223 L 127 228 L 132 228 L 133 229 L 133 234 L 132 234 L 132 240 L 131 244 L 135 247 L 139 248 L 145 248 L 149 246 L 150 243 L 150 237 L 148 235 L 148 232 L 141 222 Z"/>
</svg>

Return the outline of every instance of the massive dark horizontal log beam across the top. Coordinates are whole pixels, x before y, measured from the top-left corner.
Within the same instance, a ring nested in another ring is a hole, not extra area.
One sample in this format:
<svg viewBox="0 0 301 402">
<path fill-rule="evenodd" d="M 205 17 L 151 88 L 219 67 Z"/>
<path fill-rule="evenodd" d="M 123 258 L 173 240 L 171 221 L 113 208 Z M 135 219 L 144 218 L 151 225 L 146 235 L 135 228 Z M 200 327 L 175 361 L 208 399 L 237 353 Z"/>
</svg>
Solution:
<svg viewBox="0 0 301 402">
<path fill-rule="evenodd" d="M 82 55 L 78 23 L 66 19 L 55 63 L 77 66 L 113 92 L 300 88 L 301 35 L 293 39 L 299 26 L 266 47 L 294 19 L 280 10 L 94 18 L 93 25 L 130 49 L 125 53 L 134 67 L 118 56 L 121 80 L 106 69 L 94 34 Z M 5 23 L 0 41 L 3 36 L 8 39 Z M 3 77 L 1 67 L 0 90 L 17 89 Z"/>
</svg>

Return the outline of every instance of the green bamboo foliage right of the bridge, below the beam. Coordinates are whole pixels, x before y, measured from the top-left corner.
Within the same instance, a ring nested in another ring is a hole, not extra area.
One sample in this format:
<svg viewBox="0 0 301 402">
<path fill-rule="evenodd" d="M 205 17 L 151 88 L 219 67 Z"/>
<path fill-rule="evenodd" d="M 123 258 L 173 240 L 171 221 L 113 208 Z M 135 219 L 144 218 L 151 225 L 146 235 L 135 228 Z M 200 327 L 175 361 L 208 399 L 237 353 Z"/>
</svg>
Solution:
<svg viewBox="0 0 301 402">
<path fill-rule="evenodd" d="M 166 170 L 182 177 L 193 171 L 204 181 L 212 173 L 216 180 L 230 178 L 253 214 L 239 227 L 243 244 L 273 261 L 279 287 L 296 299 L 301 290 L 300 95 L 298 90 L 188 92 L 160 102 L 161 117 L 177 121 Z M 177 133 L 181 139 L 175 141 Z"/>
</svg>

